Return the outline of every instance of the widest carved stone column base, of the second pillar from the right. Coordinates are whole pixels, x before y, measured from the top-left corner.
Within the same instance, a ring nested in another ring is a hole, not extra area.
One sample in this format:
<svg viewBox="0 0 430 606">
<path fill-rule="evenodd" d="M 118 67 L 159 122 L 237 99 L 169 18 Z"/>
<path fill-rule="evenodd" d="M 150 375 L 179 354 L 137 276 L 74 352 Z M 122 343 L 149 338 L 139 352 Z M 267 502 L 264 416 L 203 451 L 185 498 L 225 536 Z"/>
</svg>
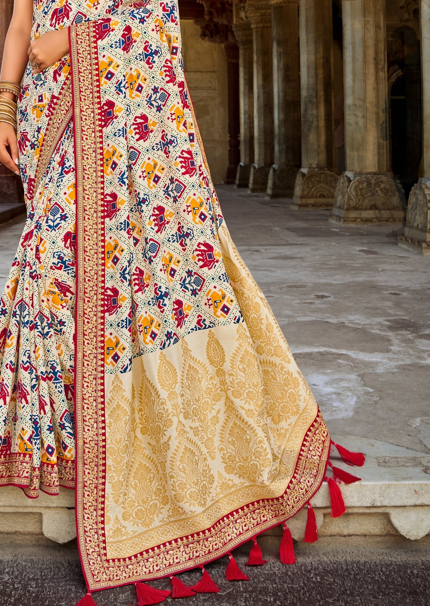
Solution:
<svg viewBox="0 0 430 606">
<path fill-rule="evenodd" d="M 390 173 L 343 173 L 337 181 L 330 221 L 402 222 L 405 207 Z"/>
</svg>

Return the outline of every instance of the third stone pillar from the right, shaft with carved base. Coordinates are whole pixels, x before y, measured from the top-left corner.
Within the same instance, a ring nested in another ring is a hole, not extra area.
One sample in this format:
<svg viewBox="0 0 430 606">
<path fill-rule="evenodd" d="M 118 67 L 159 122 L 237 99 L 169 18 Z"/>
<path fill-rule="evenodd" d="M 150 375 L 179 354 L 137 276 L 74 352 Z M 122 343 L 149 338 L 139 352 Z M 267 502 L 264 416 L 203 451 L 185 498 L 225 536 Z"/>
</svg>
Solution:
<svg viewBox="0 0 430 606">
<path fill-rule="evenodd" d="M 293 207 L 331 208 L 334 166 L 331 0 L 300 0 L 302 168 Z"/>
</svg>

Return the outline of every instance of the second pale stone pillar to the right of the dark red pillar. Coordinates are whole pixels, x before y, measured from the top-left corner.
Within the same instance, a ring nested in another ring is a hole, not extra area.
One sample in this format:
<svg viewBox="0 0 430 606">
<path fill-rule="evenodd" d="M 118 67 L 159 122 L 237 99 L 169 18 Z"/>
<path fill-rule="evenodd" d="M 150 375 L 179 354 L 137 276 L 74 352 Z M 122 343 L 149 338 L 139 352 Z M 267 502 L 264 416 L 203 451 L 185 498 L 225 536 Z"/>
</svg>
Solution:
<svg viewBox="0 0 430 606">
<path fill-rule="evenodd" d="M 251 192 L 266 191 L 273 164 L 272 10 L 268 1 L 248 1 L 246 14 L 253 30 L 254 162 Z"/>
</svg>

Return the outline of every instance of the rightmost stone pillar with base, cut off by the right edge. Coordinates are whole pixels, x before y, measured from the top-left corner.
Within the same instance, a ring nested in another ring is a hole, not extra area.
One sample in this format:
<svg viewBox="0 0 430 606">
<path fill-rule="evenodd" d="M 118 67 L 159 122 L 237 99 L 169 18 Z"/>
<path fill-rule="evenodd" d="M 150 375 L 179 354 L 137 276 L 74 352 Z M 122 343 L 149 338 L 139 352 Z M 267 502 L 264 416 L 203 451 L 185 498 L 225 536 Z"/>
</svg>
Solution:
<svg viewBox="0 0 430 606">
<path fill-rule="evenodd" d="M 420 0 L 422 94 L 423 94 L 423 176 L 409 194 L 405 235 L 400 246 L 430 255 L 430 1 Z"/>
</svg>

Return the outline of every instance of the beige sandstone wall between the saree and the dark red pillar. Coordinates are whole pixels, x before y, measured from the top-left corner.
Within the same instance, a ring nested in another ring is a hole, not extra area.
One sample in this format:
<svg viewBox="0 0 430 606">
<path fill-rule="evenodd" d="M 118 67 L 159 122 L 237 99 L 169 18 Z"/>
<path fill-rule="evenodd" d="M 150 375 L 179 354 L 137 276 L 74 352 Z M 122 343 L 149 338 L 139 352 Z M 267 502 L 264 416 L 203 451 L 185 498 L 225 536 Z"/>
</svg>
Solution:
<svg viewBox="0 0 430 606">
<path fill-rule="evenodd" d="M 180 22 L 184 69 L 214 184 L 228 166 L 227 58 L 223 44 L 200 38 L 194 22 Z"/>
</svg>

